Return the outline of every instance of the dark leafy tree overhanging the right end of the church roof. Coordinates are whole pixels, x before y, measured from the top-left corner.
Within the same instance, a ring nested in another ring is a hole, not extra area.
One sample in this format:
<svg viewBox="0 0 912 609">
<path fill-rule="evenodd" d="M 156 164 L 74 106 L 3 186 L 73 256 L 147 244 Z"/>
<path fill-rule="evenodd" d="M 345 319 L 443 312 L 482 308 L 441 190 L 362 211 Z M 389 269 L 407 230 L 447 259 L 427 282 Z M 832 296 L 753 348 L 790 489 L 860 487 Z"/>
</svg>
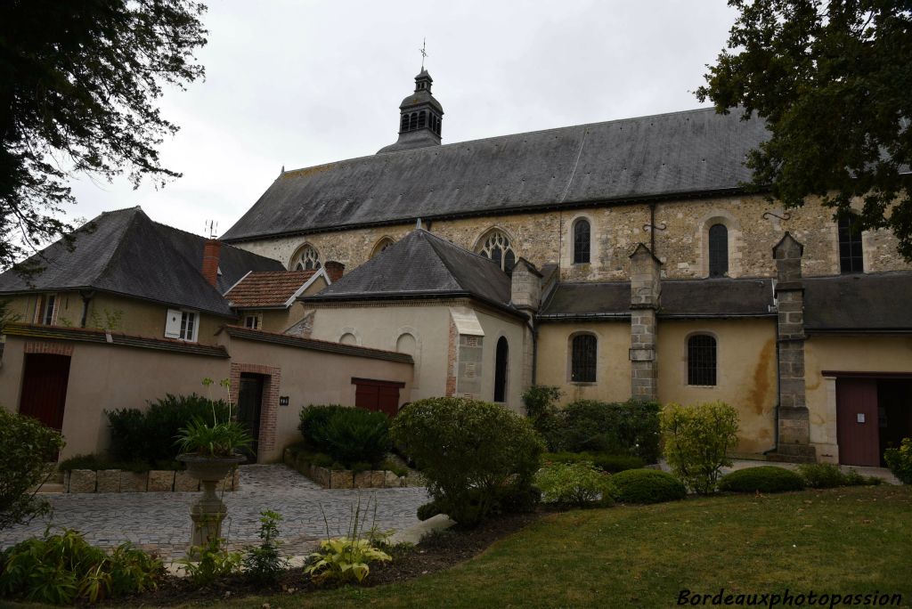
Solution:
<svg viewBox="0 0 912 609">
<path fill-rule="evenodd" d="M 766 120 L 748 187 L 787 208 L 817 196 L 855 230 L 889 228 L 912 262 L 912 5 L 903 0 L 729 0 L 740 15 L 709 66 L 721 113 Z"/>
</svg>

